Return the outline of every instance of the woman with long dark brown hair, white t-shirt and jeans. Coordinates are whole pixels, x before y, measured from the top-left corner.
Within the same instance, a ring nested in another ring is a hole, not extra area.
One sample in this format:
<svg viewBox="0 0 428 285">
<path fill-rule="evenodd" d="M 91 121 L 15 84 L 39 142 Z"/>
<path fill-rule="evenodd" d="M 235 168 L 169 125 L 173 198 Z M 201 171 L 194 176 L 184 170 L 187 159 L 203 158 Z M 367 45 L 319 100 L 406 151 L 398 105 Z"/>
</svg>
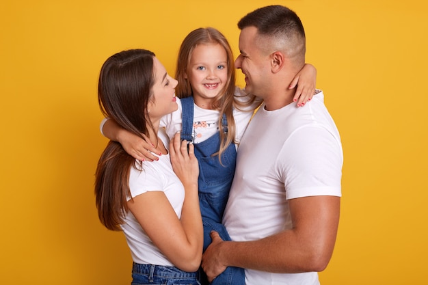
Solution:
<svg viewBox="0 0 428 285">
<path fill-rule="evenodd" d="M 101 68 L 101 111 L 129 133 L 144 134 L 159 153 L 156 162 L 136 161 L 110 141 L 96 169 L 98 217 L 109 230 L 124 232 L 132 284 L 200 284 L 198 160 L 179 134 L 168 152 L 169 138 L 159 128 L 161 118 L 178 108 L 176 85 L 155 54 L 142 49 L 117 53 Z"/>
</svg>

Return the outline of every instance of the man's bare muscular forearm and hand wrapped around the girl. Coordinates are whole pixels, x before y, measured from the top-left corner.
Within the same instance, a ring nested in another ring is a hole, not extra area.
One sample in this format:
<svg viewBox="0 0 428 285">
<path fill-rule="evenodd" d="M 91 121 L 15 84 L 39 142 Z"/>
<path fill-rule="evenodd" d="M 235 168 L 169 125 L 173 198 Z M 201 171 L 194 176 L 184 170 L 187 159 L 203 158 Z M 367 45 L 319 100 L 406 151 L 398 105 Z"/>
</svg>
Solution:
<svg viewBox="0 0 428 285">
<path fill-rule="evenodd" d="M 213 243 L 202 257 L 212 280 L 228 266 L 273 273 L 323 271 L 332 257 L 340 197 L 310 196 L 289 200 L 293 228 L 258 241 Z"/>
</svg>

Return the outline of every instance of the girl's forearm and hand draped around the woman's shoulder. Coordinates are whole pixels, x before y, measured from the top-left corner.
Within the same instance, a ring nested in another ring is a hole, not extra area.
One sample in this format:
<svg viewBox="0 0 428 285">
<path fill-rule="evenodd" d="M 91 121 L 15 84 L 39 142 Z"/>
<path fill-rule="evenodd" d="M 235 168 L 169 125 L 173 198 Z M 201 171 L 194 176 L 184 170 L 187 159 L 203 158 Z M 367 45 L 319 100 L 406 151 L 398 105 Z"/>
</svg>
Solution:
<svg viewBox="0 0 428 285">
<path fill-rule="evenodd" d="M 126 131 L 124 128 L 118 125 L 115 120 L 108 119 L 101 122 L 101 133 L 111 139 L 112 141 L 118 141 L 124 150 L 138 161 L 154 161 L 158 158 L 152 154 L 157 153 L 155 146 L 148 137 L 143 135 L 141 137 Z M 158 153 L 159 154 L 159 153 Z"/>
</svg>

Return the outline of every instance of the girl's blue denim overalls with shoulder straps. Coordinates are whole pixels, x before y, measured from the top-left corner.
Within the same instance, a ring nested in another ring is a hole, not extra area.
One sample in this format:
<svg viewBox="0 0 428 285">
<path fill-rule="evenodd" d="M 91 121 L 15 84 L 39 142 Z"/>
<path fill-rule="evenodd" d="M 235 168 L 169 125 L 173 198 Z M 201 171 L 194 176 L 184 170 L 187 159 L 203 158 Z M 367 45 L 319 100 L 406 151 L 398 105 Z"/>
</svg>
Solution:
<svg viewBox="0 0 428 285">
<path fill-rule="evenodd" d="M 193 141 L 193 96 L 182 98 L 183 107 L 181 139 Z M 226 116 L 222 118 L 222 130 L 227 133 Z M 230 236 L 222 224 L 224 208 L 228 202 L 230 186 L 235 174 L 237 151 L 235 144 L 230 144 L 222 154 L 222 164 L 218 155 L 212 156 L 220 148 L 220 134 L 216 133 L 209 139 L 195 146 L 195 156 L 199 162 L 199 202 L 204 225 L 204 251 L 211 244 L 210 232 L 215 230 L 224 241 L 230 241 Z M 202 271 L 202 269 L 201 269 Z M 202 284 L 208 284 L 202 273 Z M 228 267 L 211 283 L 213 285 L 244 285 L 244 270 L 238 267 Z"/>
</svg>

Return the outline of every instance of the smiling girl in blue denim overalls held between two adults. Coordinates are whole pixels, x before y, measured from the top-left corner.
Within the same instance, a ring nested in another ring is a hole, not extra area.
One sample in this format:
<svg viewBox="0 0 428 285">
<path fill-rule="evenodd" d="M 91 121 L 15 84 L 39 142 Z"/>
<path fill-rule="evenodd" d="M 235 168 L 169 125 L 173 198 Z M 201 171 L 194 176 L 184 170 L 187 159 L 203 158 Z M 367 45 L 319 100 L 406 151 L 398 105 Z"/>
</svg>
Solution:
<svg viewBox="0 0 428 285">
<path fill-rule="evenodd" d="M 261 103 L 260 99 L 235 87 L 233 64 L 232 50 L 222 33 L 213 28 L 191 31 L 178 53 L 178 111 L 162 119 L 168 135 L 181 131 L 181 138 L 192 141 L 195 146 L 200 167 L 198 186 L 204 249 L 211 243 L 211 230 L 219 232 L 222 239 L 230 240 L 222 225 L 222 216 L 235 174 L 236 149 L 254 109 Z M 305 77 L 309 83 L 305 83 Z M 297 80 L 299 77 L 291 87 Z M 300 81 L 295 101 L 304 105 L 315 90 L 315 68 L 306 65 Z M 101 131 L 106 137 L 120 141 L 135 159 L 157 159 L 153 155 L 156 150 L 141 137 L 118 128 L 113 120 L 102 124 Z M 244 284 L 243 269 L 228 268 L 212 284 Z"/>
</svg>

